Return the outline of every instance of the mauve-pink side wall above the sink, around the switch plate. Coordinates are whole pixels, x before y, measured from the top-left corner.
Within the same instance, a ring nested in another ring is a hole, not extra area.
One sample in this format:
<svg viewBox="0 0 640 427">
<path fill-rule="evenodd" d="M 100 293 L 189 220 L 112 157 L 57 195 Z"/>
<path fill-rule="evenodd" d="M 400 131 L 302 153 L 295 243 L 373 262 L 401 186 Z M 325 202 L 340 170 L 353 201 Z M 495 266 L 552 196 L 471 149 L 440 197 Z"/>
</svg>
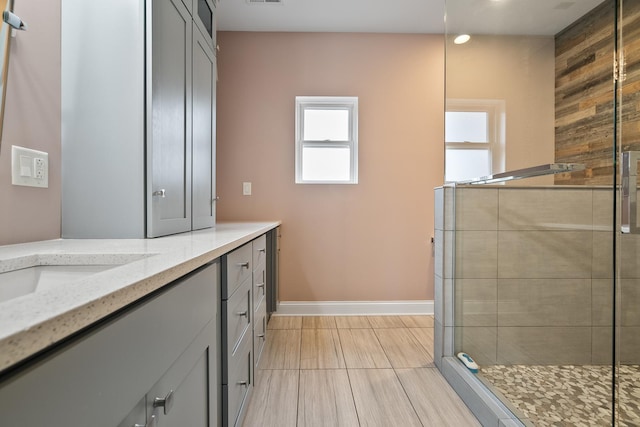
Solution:
<svg viewBox="0 0 640 427">
<path fill-rule="evenodd" d="M 0 245 L 60 237 L 60 1 L 17 1 L 0 148 Z M 11 185 L 11 146 L 49 153 L 49 188 Z"/>
</svg>

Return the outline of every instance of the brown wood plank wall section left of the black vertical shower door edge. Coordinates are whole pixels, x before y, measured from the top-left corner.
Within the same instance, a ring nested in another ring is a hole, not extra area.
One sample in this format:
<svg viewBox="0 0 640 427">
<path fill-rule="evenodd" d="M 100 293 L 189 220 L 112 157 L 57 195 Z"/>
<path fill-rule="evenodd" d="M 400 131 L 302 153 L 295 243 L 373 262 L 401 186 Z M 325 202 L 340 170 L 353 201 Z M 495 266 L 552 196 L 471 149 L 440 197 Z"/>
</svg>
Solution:
<svg viewBox="0 0 640 427">
<path fill-rule="evenodd" d="M 556 184 L 612 182 L 613 7 L 605 1 L 555 38 L 555 159 L 586 165 Z"/>
</svg>

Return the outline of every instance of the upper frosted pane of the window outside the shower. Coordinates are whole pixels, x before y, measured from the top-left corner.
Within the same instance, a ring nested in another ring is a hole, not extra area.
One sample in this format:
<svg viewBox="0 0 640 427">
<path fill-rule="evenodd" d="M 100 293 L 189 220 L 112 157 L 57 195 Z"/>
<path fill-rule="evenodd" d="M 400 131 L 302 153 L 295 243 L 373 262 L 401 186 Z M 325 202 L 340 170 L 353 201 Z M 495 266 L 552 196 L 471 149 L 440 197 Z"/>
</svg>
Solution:
<svg viewBox="0 0 640 427">
<path fill-rule="evenodd" d="M 305 141 L 348 141 L 349 110 L 304 110 Z"/>
</svg>

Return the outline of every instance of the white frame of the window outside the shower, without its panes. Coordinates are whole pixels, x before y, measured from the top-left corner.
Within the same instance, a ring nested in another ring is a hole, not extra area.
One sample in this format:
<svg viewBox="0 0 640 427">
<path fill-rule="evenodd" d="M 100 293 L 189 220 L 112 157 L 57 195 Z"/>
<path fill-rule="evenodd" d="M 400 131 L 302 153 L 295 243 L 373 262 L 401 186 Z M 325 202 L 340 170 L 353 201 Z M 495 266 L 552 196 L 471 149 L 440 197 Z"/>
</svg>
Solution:
<svg viewBox="0 0 640 427">
<path fill-rule="evenodd" d="M 305 141 L 304 111 L 306 109 L 349 110 L 349 139 L 347 141 Z M 295 173 L 296 184 L 357 184 L 358 183 L 358 97 L 357 96 L 296 96 L 295 114 Z M 347 180 L 305 180 L 302 171 L 302 152 L 305 147 L 348 148 L 350 174 Z"/>
</svg>

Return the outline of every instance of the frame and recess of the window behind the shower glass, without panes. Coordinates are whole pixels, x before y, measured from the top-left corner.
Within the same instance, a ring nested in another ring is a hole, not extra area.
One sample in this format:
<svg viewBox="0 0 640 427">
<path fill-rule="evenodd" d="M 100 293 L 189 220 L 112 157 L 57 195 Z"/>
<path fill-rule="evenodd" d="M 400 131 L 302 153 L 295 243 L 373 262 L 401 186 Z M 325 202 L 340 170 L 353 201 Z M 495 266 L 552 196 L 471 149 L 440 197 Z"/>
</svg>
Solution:
<svg viewBox="0 0 640 427">
<path fill-rule="evenodd" d="M 501 99 L 447 99 L 447 112 L 486 112 L 488 142 L 446 141 L 447 150 L 480 150 L 489 151 L 489 171 L 496 174 L 505 168 L 505 102 Z M 445 178 L 447 173 L 445 171 Z M 479 177 L 469 177 L 479 178 Z M 446 182 L 451 182 L 445 179 Z"/>
</svg>

